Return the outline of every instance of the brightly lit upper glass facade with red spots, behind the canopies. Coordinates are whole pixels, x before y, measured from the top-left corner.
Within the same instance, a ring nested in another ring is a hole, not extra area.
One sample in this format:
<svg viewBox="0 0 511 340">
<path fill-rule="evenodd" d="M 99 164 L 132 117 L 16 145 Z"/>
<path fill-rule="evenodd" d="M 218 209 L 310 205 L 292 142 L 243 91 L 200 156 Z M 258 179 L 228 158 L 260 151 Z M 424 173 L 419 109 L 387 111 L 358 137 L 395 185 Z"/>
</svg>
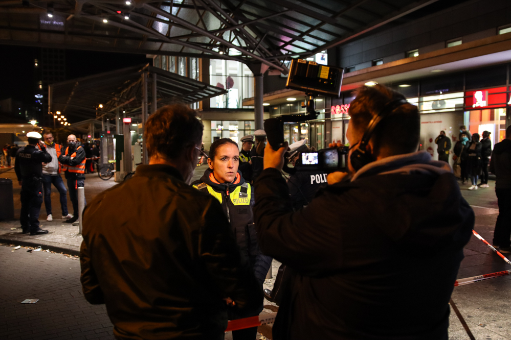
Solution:
<svg viewBox="0 0 511 340">
<path fill-rule="evenodd" d="M 209 77 L 211 85 L 228 90 L 227 94 L 211 98 L 211 108 L 241 108 L 243 98 L 254 96 L 254 75 L 238 61 L 211 59 Z"/>
</svg>

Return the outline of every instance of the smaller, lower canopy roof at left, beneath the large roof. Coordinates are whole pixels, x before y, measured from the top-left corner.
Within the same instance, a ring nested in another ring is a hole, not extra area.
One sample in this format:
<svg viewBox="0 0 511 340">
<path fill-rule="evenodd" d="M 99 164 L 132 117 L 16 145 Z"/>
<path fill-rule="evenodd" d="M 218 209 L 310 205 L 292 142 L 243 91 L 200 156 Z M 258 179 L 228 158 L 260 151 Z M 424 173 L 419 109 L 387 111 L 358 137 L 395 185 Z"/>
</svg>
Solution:
<svg viewBox="0 0 511 340">
<path fill-rule="evenodd" d="M 174 103 L 191 104 L 227 93 L 222 88 L 158 67 L 139 65 L 51 85 L 51 111 L 79 118 L 96 118 L 117 111 L 126 111 L 128 117 L 140 114 L 144 72 L 149 74 L 149 104 L 152 103 L 152 75 L 156 75 L 158 107 Z M 102 107 L 99 107 L 100 104 Z"/>
</svg>

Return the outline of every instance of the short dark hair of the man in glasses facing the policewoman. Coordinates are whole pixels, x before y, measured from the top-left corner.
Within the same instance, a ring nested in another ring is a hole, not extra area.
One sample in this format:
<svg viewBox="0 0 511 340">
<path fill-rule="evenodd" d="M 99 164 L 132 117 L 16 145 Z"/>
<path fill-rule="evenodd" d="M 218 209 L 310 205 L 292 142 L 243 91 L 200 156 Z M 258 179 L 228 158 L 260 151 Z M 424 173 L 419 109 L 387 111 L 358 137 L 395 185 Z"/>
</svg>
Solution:
<svg viewBox="0 0 511 340">
<path fill-rule="evenodd" d="M 178 158 L 186 148 L 201 144 L 203 129 L 195 110 L 182 104 L 164 106 L 147 119 L 147 154 Z"/>
</svg>

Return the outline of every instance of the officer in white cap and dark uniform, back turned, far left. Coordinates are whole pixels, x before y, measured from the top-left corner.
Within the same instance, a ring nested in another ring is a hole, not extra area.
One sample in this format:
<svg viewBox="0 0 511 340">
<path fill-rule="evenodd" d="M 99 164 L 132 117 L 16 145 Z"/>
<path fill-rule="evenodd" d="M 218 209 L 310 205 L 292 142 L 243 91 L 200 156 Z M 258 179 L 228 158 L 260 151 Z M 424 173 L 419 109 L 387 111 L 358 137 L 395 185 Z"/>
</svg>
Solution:
<svg viewBox="0 0 511 340">
<path fill-rule="evenodd" d="M 46 151 L 45 143 L 39 141 L 41 134 L 27 133 L 28 145 L 18 150 L 14 171 L 21 186 L 21 229 L 30 235 L 47 234 L 39 228 L 39 211 L 42 204 L 42 163 L 50 163 L 52 156 Z M 39 144 L 40 150 L 36 148 Z"/>
</svg>

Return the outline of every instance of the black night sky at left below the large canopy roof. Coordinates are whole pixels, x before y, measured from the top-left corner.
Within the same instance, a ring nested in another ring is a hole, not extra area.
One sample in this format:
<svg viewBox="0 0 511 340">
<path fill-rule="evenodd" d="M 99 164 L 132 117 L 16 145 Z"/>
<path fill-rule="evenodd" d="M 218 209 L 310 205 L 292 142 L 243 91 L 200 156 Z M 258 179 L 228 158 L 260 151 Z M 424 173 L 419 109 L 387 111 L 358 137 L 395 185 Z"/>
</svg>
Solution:
<svg viewBox="0 0 511 340">
<path fill-rule="evenodd" d="M 32 103 L 35 94 L 34 59 L 39 47 L 0 45 L 0 100 Z M 146 64 L 142 54 L 66 50 L 66 79 L 75 79 L 128 66 Z"/>
</svg>

